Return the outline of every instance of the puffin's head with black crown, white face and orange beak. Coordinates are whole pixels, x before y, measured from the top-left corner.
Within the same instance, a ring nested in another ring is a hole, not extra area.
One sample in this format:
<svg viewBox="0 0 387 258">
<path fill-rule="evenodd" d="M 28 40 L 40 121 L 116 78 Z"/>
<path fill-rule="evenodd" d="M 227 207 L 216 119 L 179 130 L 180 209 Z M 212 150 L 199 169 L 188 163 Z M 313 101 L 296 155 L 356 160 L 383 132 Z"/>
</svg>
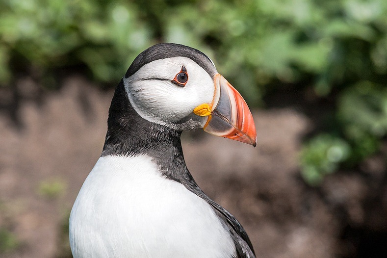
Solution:
<svg viewBox="0 0 387 258">
<path fill-rule="evenodd" d="M 204 53 L 162 43 L 140 53 L 124 77 L 135 111 L 179 130 L 208 133 L 256 146 L 251 112 L 242 96 Z"/>
</svg>

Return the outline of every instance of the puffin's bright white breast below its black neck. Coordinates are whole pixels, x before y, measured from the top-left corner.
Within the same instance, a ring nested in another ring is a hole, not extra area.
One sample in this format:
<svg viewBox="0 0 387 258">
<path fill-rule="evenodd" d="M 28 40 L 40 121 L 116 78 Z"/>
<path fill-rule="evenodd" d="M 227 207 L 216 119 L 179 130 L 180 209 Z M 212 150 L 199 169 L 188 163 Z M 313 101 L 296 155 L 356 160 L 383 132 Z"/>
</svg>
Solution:
<svg viewBox="0 0 387 258">
<path fill-rule="evenodd" d="M 212 208 L 165 179 L 148 156 L 101 157 L 70 215 L 75 258 L 230 258 L 234 244 Z"/>
</svg>

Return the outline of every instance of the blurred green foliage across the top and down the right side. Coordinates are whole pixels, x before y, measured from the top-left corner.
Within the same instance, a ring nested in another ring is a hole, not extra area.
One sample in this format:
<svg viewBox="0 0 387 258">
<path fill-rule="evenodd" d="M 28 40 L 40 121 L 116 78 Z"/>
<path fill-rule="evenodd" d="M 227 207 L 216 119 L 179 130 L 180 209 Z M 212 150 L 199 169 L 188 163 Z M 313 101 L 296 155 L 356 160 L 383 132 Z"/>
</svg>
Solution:
<svg viewBox="0 0 387 258">
<path fill-rule="evenodd" d="M 0 0 L 2 85 L 21 64 L 42 77 L 83 65 L 116 82 L 157 42 L 202 50 L 252 105 L 289 83 L 334 99 L 335 128 L 301 153 L 312 184 L 386 136 L 386 0 Z"/>
</svg>

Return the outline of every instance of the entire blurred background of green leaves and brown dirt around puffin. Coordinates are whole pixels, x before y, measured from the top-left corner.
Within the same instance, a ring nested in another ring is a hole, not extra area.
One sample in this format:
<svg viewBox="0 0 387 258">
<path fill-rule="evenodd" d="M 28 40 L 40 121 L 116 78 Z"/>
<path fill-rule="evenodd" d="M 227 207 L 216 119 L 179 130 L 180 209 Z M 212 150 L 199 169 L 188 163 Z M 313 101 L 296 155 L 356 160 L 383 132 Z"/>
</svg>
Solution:
<svg viewBox="0 0 387 258">
<path fill-rule="evenodd" d="M 155 43 L 205 52 L 258 145 L 183 134 L 259 257 L 387 257 L 386 0 L 0 0 L 0 257 L 69 258 L 115 86 Z"/>
</svg>

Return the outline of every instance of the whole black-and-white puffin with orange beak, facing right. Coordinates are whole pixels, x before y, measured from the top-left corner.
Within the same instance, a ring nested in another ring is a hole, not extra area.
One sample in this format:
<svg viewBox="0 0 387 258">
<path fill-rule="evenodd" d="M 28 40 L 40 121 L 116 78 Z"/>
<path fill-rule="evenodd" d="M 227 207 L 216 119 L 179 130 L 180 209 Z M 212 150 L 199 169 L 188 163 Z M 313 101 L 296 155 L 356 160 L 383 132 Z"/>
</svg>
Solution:
<svg viewBox="0 0 387 258">
<path fill-rule="evenodd" d="M 241 224 L 199 188 L 182 131 L 256 146 L 253 116 L 203 52 L 160 43 L 118 84 L 103 151 L 69 219 L 74 258 L 255 258 Z M 203 150 L 206 151 L 206 150 Z"/>
</svg>

